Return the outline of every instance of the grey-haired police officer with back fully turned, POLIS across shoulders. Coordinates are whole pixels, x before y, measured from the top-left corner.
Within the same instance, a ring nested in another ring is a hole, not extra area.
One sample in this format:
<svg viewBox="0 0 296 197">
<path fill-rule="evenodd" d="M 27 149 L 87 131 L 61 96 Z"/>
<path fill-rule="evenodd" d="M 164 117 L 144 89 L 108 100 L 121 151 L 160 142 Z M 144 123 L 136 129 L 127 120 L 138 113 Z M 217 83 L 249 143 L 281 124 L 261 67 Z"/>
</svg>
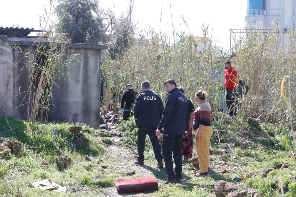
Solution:
<svg viewBox="0 0 296 197">
<path fill-rule="evenodd" d="M 155 130 L 161 119 L 164 106 L 161 98 L 158 94 L 150 91 L 150 82 L 144 81 L 141 84 L 142 92 L 137 96 L 134 106 L 134 116 L 136 125 L 138 127 L 138 160 L 135 164 L 140 166 L 144 165 L 144 149 L 145 138 L 148 133 L 150 141 L 153 146 L 155 158 L 157 160 L 157 166 L 163 167 L 161 148 Z"/>
</svg>

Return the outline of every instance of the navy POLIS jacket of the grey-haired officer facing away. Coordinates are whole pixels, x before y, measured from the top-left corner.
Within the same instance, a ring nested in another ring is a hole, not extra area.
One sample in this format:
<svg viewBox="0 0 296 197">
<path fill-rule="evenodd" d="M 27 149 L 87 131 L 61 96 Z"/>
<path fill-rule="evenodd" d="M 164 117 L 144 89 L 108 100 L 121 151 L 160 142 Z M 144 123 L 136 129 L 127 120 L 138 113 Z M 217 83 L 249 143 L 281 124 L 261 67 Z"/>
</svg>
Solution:
<svg viewBox="0 0 296 197">
<path fill-rule="evenodd" d="M 164 105 L 158 94 L 149 90 L 141 92 L 135 101 L 134 116 L 136 125 L 141 126 L 157 126 L 162 112 L 164 111 Z"/>
</svg>

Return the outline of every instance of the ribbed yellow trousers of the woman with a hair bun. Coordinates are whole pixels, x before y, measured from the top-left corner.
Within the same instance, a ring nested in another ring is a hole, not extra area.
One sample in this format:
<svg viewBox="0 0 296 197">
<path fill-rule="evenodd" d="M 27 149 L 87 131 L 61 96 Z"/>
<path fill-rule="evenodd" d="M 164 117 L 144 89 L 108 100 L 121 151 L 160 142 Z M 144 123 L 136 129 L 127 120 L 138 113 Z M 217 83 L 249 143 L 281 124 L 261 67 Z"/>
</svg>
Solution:
<svg viewBox="0 0 296 197">
<path fill-rule="evenodd" d="M 194 130 L 197 133 L 197 129 Z M 200 140 L 196 142 L 196 152 L 199 161 L 200 172 L 208 172 L 210 163 L 210 139 L 213 134 L 213 128 L 204 126 L 200 133 Z"/>
</svg>

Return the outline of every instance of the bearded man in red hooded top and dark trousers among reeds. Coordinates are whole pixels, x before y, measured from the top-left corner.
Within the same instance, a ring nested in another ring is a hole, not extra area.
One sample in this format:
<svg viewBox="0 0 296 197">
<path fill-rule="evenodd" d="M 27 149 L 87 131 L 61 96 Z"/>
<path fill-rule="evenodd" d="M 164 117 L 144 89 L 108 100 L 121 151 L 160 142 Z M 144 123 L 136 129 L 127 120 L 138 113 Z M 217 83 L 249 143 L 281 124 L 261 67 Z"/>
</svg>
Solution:
<svg viewBox="0 0 296 197">
<path fill-rule="evenodd" d="M 231 66 L 230 60 L 224 62 L 224 67 L 226 104 L 228 107 L 229 115 L 236 116 L 236 106 L 238 104 L 238 93 L 236 92 L 236 85 L 239 84 L 241 79 L 237 74 L 237 71 Z"/>
</svg>

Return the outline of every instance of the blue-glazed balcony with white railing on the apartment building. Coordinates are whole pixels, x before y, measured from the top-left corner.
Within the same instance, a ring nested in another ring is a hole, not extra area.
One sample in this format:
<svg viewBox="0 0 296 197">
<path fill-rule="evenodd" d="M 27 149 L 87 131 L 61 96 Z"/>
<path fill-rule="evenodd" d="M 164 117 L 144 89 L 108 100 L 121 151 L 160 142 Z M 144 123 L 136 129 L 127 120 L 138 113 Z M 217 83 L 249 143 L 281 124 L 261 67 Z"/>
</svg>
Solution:
<svg viewBox="0 0 296 197">
<path fill-rule="evenodd" d="M 265 0 L 247 0 L 247 16 L 265 16 Z"/>
</svg>

